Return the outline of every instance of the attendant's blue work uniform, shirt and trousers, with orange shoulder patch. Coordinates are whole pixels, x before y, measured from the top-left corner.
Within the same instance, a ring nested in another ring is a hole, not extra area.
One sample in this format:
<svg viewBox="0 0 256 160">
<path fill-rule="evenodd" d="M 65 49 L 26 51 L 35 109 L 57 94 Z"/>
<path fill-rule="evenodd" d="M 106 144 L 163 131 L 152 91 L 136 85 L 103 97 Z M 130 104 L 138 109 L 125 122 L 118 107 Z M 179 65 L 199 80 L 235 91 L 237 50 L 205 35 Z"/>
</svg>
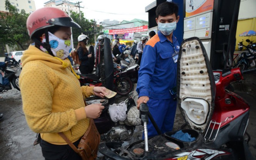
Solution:
<svg viewBox="0 0 256 160">
<path fill-rule="evenodd" d="M 143 51 L 137 83 L 139 97 L 147 96 L 149 112 L 162 133 L 171 131 L 176 113 L 176 100 L 170 93 L 176 87 L 179 43 L 172 35 L 172 43 L 159 31 L 147 43 Z M 148 136 L 157 135 L 152 123 L 148 123 Z"/>
</svg>

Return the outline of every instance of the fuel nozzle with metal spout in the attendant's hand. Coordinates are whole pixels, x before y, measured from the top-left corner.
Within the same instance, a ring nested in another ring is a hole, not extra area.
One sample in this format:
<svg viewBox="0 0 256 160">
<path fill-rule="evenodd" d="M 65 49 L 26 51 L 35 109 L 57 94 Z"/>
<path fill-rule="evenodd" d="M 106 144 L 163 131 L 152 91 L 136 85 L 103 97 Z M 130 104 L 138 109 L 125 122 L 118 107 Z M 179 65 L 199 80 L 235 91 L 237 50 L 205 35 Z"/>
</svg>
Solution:
<svg viewBox="0 0 256 160">
<path fill-rule="evenodd" d="M 141 103 L 140 105 L 140 118 L 141 122 L 144 126 L 144 141 L 145 141 L 145 151 L 149 151 L 149 146 L 148 146 L 148 139 L 147 139 L 147 123 L 149 123 L 149 107 L 147 106 L 146 103 Z"/>
</svg>

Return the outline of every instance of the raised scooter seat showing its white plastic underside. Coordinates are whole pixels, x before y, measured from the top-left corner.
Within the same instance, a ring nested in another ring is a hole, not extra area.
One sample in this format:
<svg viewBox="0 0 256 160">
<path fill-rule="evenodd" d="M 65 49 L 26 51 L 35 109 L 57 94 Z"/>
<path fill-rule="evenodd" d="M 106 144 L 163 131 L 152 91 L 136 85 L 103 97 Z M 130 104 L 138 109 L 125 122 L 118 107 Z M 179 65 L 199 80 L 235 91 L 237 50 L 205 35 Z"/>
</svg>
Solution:
<svg viewBox="0 0 256 160">
<path fill-rule="evenodd" d="M 202 133 L 214 110 L 215 81 L 199 38 L 188 38 L 181 43 L 177 66 L 178 107 L 186 123 Z"/>
</svg>

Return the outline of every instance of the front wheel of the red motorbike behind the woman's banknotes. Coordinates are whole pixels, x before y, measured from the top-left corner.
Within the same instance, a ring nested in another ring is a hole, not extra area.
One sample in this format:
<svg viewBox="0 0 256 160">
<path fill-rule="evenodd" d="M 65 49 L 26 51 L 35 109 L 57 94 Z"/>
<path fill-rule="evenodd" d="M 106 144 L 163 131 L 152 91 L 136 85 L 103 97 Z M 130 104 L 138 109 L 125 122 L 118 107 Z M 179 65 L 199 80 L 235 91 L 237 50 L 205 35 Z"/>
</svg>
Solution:
<svg viewBox="0 0 256 160">
<path fill-rule="evenodd" d="M 117 78 L 115 81 L 115 92 L 119 95 L 128 95 L 133 88 L 132 80 L 128 77 Z"/>
</svg>

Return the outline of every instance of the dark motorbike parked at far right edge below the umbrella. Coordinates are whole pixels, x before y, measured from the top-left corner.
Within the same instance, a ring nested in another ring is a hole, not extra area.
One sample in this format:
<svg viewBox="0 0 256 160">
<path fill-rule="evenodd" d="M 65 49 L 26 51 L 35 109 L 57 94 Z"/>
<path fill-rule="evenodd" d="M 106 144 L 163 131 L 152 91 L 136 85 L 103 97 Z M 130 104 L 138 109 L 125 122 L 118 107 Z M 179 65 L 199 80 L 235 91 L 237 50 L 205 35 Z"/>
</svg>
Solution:
<svg viewBox="0 0 256 160">
<path fill-rule="evenodd" d="M 238 57 L 237 63 L 234 64 L 234 68 L 239 67 L 242 71 L 248 69 L 250 66 L 255 66 L 256 59 L 256 50 L 245 45 L 243 46 L 248 50 L 248 52 L 242 52 Z"/>
</svg>

